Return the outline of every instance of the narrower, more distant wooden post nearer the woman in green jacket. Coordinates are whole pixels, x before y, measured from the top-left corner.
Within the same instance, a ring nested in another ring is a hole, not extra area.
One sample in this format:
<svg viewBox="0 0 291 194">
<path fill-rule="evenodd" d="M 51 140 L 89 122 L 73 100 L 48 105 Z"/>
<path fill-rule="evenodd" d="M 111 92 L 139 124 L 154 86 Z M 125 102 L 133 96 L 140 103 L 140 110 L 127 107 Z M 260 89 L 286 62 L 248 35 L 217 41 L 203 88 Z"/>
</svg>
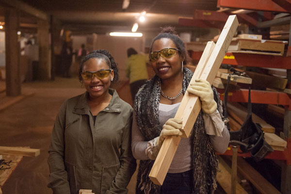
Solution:
<svg viewBox="0 0 291 194">
<path fill-rule="evenodd" d="M 38 19 L 37 24 L 39 65 L 36 77 L 39 80 L 49 80 L 51 77 L 49 57 L 49 23 L 46 20 Z"/>
</svg>

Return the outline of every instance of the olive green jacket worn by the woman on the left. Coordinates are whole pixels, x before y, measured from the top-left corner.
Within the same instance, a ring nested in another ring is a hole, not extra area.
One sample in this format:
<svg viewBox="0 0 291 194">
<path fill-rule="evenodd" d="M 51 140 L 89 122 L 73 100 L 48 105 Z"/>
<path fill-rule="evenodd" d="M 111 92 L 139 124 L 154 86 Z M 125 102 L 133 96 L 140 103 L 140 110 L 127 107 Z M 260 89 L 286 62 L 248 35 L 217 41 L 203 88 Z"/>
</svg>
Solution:
<svg viewBox="0 0 291 194">
<path fill-rule="evenodd" d="M 130 149 L 132 107 L 109 89 L 112 100 L 94 124 L 88 92 L 61 106 L 49 147 L 49 187 L 54 194 L 126 194 L 136 168 Z"/>
</svg>

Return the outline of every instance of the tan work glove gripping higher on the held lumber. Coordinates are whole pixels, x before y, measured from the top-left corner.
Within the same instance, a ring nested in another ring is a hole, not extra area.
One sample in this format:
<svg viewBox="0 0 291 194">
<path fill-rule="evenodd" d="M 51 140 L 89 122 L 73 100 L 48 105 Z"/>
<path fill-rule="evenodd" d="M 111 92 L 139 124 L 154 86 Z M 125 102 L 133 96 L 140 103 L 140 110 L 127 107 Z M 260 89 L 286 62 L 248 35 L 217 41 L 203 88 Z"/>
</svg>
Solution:
<svg viewBox="0 0 291 194">
<path fill-rule="evenodd" d="M 213 97 L 213 91 L 210 83 L 206 80 L 196 79 L 195 82 L 191 82 L 187 91 L 195 94 L 201 100 L 202 111 L 206 114 L 212 114 L 217 108 L 217 103 Z"/>
</svg>

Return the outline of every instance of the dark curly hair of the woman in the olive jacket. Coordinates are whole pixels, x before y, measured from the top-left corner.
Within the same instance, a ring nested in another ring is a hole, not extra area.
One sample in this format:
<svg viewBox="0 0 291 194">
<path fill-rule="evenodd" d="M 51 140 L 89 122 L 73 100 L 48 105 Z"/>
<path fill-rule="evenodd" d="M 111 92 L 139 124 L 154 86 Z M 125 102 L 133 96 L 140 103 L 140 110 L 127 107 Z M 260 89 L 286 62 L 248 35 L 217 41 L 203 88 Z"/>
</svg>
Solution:
<svg viewBox="0 0 291 194">
<path fill-rule="evenodd" d="M 104 59 L 108 67 L 114 71 L 113 83 L 117 83 L 119 81 L 117 63 L 115 63 L 113 56 L 107 50 L 100 49 L 83 56 L 81 59 L 79 68 L 80 82 L 83 80 L 81 77 L 81 72 L 83 71 L 84 63 L 91 58 Z"/>
</svg>

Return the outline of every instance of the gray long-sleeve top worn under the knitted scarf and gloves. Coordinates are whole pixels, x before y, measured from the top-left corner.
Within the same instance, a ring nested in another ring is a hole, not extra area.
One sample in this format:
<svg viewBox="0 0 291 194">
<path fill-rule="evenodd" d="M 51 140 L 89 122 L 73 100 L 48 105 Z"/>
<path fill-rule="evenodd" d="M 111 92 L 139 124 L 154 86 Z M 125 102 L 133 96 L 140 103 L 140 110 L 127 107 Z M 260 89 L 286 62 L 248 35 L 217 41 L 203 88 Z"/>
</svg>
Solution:
<svg viewBox="0 0 291 194">
<path fill-rule="evenodd" d="M 159 122 L 162 125 L 170 118 L 174 118 L 178 110 L 180 103 L 174 105 L 159 105 Z M 219 112 L 216 110 L 213 114 L 203 114 L 203 119 L 205 123 L 205 130 L 208 135 L 210 135 L 210 141 L 213 145 L 213 149 L 216 152 L 224 153 L 228 147 L 229 142 L 229 132 L 222 121 Z M 191 169 L 191 153 L 192 153 L 192 143 L 191 139 L 193 137 L 181 139 L 176 154 L 172 160 L 169 168 L 169 173 L 180 173 Z M 132 141 L 131 149 L 132 154 L 135 159 L 153 159 L 151 155 L 157 155 L 159 150 L 156 149 L 156 141 L 158 137 L 151 141 L 144 141 L 144 137 L 139 130 L 136 123 L 136 117 L 133 113 L 133 123 L 132 123 Z"/>
</svg>

